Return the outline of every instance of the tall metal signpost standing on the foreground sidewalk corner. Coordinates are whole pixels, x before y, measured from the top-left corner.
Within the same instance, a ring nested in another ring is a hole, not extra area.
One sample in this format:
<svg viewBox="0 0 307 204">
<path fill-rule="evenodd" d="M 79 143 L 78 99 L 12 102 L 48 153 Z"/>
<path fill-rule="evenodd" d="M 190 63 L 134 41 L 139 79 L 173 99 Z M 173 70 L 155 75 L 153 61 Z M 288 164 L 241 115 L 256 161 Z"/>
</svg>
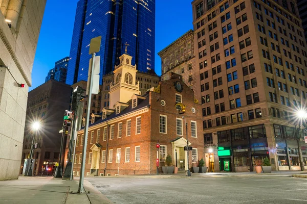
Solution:
<svg viewBox="0 0 307 204">
<path fill-rule="evenodd" d="M 93 89 L 93 76 L 94 76 L 94 64 L 95 64 L 95 56 L 96 53 L 92 54 L 92 67 L 90 67 L 90 81 L 87 83 L 90 83 L 89 87 L 89 101 L 87 103 L 87 112 L 86 112 L 86 118 L 85 118 L 85 127 L 84 127 L 84 138 L 83 138 L 83 149 L 82 149 L 82 163 L 81 163 L 81 170 L 80 170 L 80 181 L 79 181 L 79 188 L 78 188 L 78 194 L 84 193 L 83 188 L 83 180 L 84 180 L 84 168 L 85 168 L 85 154 L 86 154 L 86 146 L 87 146 L 87 130 L 89 129 L 89 122 L 90 122 L 90 110 L 91 110 L 91 102 L 92 102 L 92 89 Z"/>
</svg>

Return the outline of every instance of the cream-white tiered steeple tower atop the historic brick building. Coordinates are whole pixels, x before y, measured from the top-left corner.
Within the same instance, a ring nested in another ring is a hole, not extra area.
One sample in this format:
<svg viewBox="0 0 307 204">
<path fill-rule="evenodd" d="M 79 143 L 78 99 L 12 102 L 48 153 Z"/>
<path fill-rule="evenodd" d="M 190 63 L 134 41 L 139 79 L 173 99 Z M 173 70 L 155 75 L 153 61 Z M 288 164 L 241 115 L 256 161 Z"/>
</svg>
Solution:
<svg viewBox="0 0 307 204">
<path fill-rule="evenodd" d="M 115 109 L 117 102 L 127 103 L 133 94 L 140 94 L 139 82 L 136 83 L 137 66 L 131 65 L 132 57 L 127 54 L 127 43 L 125 53 L 119 57 L 120 63 L 115 66 L 114 84 L 110 87 L 109 108 Z"/>
</svg>

